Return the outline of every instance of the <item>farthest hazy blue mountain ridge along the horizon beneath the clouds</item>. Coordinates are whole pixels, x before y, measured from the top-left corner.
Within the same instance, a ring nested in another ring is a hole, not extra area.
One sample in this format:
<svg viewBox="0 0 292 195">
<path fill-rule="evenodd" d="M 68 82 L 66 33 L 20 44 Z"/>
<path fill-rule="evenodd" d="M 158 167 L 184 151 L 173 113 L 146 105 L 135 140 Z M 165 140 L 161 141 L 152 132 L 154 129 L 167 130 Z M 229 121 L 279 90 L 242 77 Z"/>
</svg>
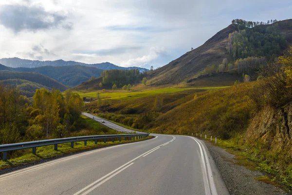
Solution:
<svg viewBox="0 0 292 195">
<path fill-rule="evenodd" d="M 84 66 L 92 66 L 98 69 L 102 70 L 113 70 L 113 69 L 119 69 L 119 70 L 131 70 L 131 69 L 139 69 L 141 72 L 148 71 L 146 68 L 140 68 L 140 67 L 121 67 L 114 65 L 110 62 L 103 62 L 103 63 L 96 63 L 96 64 L 87 64 L 77 61 L 64 61 L 62 59 L 58 59 L 55 61 L 39 61 L 39 60 L 29 60 L 29 59 L 19 59 L 19 58 L 3 58 L 0 59 L 0 63 L 13 67 L 25 67 L 25 68 L 35 68 L 35 67 L 41 67 L 41 66 L 74 66 L 74 65 L 84 65 Z"/>
</svg>

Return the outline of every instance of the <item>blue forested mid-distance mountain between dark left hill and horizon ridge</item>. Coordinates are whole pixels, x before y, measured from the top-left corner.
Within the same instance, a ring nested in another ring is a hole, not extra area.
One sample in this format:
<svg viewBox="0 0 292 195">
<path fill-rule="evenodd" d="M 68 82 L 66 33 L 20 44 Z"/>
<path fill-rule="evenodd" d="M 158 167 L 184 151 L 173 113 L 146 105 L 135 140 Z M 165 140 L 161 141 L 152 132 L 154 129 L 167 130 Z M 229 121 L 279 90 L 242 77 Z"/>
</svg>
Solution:
<svg viewBox="0 0 292 195">
<path fill-rule="evenodd" d="M 103 70 L 101 69 L 83 65 L 42 66 L 37 68 L 10 68 L 10 69 L 17 72 L 40 73 L 47 77 L 54 78 L 55 80 L 70 87 L 78 85 L 86 80 L 89 80 L 91 76 L 94 76 L 95 78 L 100 77 L 101 73 L 103 72 Z"/>
</svg>

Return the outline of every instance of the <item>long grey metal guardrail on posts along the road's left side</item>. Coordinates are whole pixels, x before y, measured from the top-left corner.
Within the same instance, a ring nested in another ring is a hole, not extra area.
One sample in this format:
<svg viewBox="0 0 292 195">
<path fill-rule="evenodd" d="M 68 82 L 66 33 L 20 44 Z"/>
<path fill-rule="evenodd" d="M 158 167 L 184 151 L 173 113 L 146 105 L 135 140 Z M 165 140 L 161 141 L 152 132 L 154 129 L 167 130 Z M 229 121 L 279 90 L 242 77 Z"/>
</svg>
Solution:
<svg viewBox="0 0 292 195">
<path fill-rule="evenodd" d="M 121 134 L 121 135 L 102 135 L 102 136 L 82 136 L 82 137 L 67 137 L 67 138 L 58 138 L 58 139 L 46 139 L 46 140 L 39 140 L 39 141 L 29 141 L 29 142 L 21 142 L 21 143 L 12 143 L 12 144 L 3 144 L 0 145 L 0 152 L 3 153 L 2 160 L 7 160 L 7 152 L 14 151 L 14 150 L 21 150 L 21 149 L 27 149 L 32 148 L 33 154 L 37 154 L 37 147 L 40 146 L 48 146 L 48 145 L 55 145 L 55 150 L 58 150 L 58 144 L 60 143 L 69 143 L 71 142 L 71 148 L 74 148 L 74 142 L 75 141 L 84 141 L 84 145 L 87 145 L 87 140 L 94 140 L 95 144 L 97 143 L 98 139 L 104 139 L 104 143 L 107 142 L 107 139 L 111 138 L 111 141 L 114 142 L 115 138 L 119 138 L 119 141 L 121 141 L 121 138 L 124 137 L 125 140 L 129 137 L 130 140 L 133 139 L 140 139 L 148 137 L 149 133 L 143 133 L 143 134 Z"/>
</svg>

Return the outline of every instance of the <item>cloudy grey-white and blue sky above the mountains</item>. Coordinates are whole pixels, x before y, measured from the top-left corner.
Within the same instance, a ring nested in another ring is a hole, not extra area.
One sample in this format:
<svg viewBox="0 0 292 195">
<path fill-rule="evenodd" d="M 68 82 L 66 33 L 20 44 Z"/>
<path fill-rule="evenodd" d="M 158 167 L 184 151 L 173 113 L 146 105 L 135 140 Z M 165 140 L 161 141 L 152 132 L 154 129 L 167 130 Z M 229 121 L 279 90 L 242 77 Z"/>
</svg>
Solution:
<svg viewBox="0 0 292 195">
<path fill-rule="evenodd" d="M 233 19 L 291 10 L 291 0 L 0 0 L 0 58 L 159 67 Z"/>
</svg>

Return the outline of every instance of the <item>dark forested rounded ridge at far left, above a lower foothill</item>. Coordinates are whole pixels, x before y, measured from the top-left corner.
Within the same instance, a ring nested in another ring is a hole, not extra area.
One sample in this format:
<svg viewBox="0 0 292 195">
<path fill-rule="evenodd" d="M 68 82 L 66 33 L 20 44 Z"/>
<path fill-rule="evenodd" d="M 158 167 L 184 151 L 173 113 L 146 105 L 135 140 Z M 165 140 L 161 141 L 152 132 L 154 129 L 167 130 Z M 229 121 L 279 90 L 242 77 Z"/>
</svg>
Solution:
<svg viewBox="0 0 292 195">
<path fill-rule="evenodd" d="M 55 88 L 61 91 L 67 89 L 65 85 L 59 83 L 53 78 L 46 77 L 38 73 L 22 73 L 22 72 L 12 72 L 12 71 L 0 71 L 0 80 L 8 79 L 22 79 L 38 83 L 48 88 Z"/>
</svg>

